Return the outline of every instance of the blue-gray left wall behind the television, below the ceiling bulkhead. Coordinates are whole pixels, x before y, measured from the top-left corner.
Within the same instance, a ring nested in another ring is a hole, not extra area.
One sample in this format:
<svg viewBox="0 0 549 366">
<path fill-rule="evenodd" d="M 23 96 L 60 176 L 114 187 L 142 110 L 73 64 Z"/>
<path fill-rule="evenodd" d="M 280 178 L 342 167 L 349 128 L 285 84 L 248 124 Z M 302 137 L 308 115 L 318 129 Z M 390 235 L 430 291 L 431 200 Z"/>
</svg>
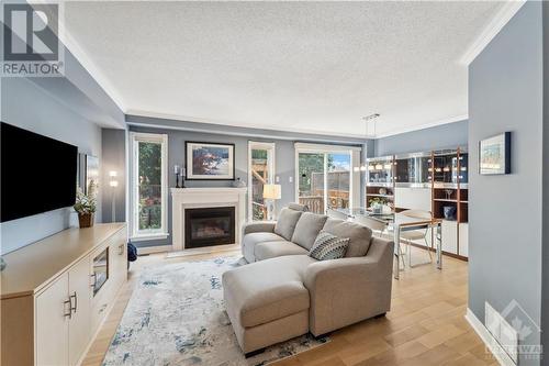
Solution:
<svg viewBox="0 0 549 366">
<path fill-rule="evenodd" d="M 77 145 L 80 153 L 101 157 L 100 126 L 67 108 L 30 79 L 2 78 L 1 89 L 3 122 Z M 38 157 L 37 164 L 48 162 L 40 162 Z M 37 190 L 41 179 L 47 177 L 36 177 Z M 1 223 L 1 253 L 11 252 L 69 225 L 77 225 L 77 217 L 70 211 L 71 209 L 59 209 Z M 101 210 L 96 220 L 101 221 Z"/>
</svg>

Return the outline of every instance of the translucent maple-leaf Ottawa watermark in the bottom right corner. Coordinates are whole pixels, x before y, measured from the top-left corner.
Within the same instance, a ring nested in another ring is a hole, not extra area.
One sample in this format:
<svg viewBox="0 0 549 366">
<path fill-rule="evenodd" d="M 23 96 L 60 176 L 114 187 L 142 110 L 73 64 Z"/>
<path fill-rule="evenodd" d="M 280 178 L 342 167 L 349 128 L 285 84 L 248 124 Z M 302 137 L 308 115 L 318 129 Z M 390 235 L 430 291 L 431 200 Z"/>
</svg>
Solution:
<svg viewBox="0 0 549 366">
<path fill-rule="evenodd" d="M 518 301 L 512 300 L 500 314 L 511 325 L 511 328 L 504 325 L 498 328 L 500 334 L 496 339 L 501 346 L 500 352 L 505 353 L 515 363 L 518 363 L 519 358 L 541 359 L 544 355 L 542 345 L 539 343 L 541 329 Z"/>
</svg>

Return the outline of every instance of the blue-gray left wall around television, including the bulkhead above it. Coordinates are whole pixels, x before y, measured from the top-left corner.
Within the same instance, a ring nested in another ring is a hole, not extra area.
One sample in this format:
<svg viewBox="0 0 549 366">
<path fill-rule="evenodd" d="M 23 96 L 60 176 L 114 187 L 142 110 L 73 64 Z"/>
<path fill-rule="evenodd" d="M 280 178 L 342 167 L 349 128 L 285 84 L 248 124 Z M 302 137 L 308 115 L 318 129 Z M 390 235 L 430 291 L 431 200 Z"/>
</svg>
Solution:
<svg viewBox="0 0 549 366">
<path fill-rule="evenodd" d="M 66 49 L 66 76 L 56 78 L 1 78 L 1 120 L 78 146 L 79 153 L 102 155 L 102 126 L 125 126 L 124 113 Z M 36 164 L 55 164 L 41 162 Z M 32 167 L 29 167 L 32 169 Z M 42 179 L 35 177 L 40 191 Z M 96 221 L 102 221 L 102 188 Z M 42 192 L 47 195 L 47 192 Z M 5 254 L 64 229 L 78 225 L 71 208 L 0 224 L 0 253 Z"/>
</svg>

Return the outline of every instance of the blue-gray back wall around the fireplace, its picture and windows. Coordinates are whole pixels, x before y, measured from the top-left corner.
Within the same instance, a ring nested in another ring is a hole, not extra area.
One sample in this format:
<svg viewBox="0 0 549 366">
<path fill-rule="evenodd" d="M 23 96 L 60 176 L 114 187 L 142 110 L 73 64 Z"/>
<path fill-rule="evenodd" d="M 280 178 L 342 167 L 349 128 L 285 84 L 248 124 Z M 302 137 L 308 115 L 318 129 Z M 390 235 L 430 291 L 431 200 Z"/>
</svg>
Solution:
<svg viewBox="0 0 549 366">
<path fill-rule="evenodd" d="M 248 141 L 257 142 L 274 142 L 276 143 L 276 176 L 280 178 L 282 186 L 282 198 L 277 201 L 277 209 L 294 201 L 294 182 L 289 179 L 294 179 L 295 155 L 294 155 L 294 141 L 265 138 L 265 137 L 248 137 L 237 135 L 226 135 L 217 133 L 203 133 L 193 131 L 178 131 L 161 127 L 144 127 L 144 126 L 130 126 L 130 131 L 135 132 L 149 132 L 149 133 L 165 133 L 168 134 L 168 171 L 172 171 L 173 165 L 184 165 L 184 142 L 186 141 L 204 141 L 204 142 L 220 142 L 235 144 L 235 176 L 240 177 L 244 181 L 248 180 Z M 253 129 L 247 130 L 251 134 Z M 277 134 L 278 132 L 270 132 Z M 303 137 L 303 136 L 302 136 Z M 351 140 L 352 141 L 352 140 Z M 186 187 L 229 187 L 232 181 L 186 181 Z M 169 187 L 176 186 L 176 178 L 173 174 L 169 175 Z M 168 202 L 168 225 L 171 233 L 171 197 Z M 171 243 L 170 239 L 161 241 L 143 241 L 135 244 L 139 247 L 168 245 Z"/>
</svg>

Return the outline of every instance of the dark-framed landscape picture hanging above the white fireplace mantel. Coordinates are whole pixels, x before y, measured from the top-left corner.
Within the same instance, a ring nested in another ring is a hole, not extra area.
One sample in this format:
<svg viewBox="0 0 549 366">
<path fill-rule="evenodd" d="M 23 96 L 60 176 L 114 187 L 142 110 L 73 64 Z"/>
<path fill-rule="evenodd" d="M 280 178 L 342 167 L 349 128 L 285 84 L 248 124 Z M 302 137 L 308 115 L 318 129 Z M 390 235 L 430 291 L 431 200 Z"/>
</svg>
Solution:
<svg viewBox="0 0 549 366">
<path fill-rule="evenodd" d="M 187 180 L 234 180 L 235 145 L 186 142 Z"/>
</svg>

